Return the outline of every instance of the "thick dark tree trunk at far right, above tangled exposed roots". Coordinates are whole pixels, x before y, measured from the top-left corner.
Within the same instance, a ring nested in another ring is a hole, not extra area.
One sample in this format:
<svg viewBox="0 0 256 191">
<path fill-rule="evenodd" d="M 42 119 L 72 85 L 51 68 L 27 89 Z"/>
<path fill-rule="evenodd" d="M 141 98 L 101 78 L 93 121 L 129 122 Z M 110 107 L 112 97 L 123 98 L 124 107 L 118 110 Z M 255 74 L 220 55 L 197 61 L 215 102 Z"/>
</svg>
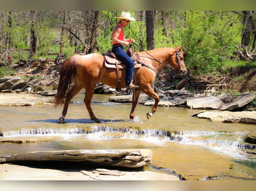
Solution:
<svg viewBox="0 0 256 191">
<path fill-rule="evenodd" d="M 243 30 L 241 44 L 245 47 L 250 44 L 251 37 L 251 24 L 252 24 L 252 13 L 253 11 L 243 11 Z"/>
</svg>

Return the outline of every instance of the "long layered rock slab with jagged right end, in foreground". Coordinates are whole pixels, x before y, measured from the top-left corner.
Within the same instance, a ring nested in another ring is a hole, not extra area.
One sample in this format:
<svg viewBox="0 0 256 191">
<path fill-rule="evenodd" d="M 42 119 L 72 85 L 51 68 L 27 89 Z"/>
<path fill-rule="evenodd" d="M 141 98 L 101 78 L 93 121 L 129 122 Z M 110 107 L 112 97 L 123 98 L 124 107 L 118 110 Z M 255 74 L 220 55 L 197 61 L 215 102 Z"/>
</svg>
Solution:
<svg viewBox="0 0 256 191">
<path fill-rule="evenodd" d="M 24 161 L 87 162 L 103 166 L 137 168 L 150 164 L 149 149 L 35 151 L 0 157 L 0 163 Z"/>
</svg>

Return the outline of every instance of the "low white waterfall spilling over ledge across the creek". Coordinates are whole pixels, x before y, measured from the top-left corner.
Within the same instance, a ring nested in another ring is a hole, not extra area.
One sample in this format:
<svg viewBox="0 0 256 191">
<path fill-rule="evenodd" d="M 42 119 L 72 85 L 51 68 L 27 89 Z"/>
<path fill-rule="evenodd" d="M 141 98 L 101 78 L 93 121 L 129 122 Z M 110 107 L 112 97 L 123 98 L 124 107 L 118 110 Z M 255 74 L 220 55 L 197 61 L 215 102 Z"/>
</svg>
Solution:
<svg viewBox="0 0 256 191">
<path fill-rule="evenodd" d="M 104 133 L 103 133 L 104 132 Z M 97 134 L 98 133 L 98 134 Z M 256 149 L 253 144 L 243 142 L 248 132 L 217 132 L 217 131 L 167 131 L 161 129 L 139 129 L 129 127 L 108 127 L 101 125 L 92 125 L 79 128 L 29 128 L 11 130 L 2 132 L 3 136 L 20 135 L 83 135 L 91 134 L 97 139 L 110 138 L 128 138 L 140 139 L 142 141 L 152 142 L 152 144 L 165 144 L 166 141 L 174 141 L 179 144 L 199 145 L 208 148 L 214 152 L 230 155 L 235 158 L 246 159 L 244 153 L 251 154 L 255 158 L 254 151 L 245 151 L 245 149 Z M 254 154 L 254 155 L 253 155 Z"/>
</svg>

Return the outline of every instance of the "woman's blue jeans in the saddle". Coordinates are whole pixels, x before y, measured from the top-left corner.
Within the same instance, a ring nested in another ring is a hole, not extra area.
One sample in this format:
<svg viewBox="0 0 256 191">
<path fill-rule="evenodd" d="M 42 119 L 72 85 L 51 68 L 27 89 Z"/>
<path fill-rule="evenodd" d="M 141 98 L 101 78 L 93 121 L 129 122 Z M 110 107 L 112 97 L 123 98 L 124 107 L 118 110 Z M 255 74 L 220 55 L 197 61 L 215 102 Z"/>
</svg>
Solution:
<svg viewBox="0 0 256 191">
<path fill-rule="evenodd" d="M 112 52 L 116 55 L 121 62 L 126 64 L 126 75 L 125 75 L 125 82 L 126 86 L 129 86 L 132 79 L 133 69 L 134 69 L 134 62 L 132 59 L 123 51 L 123 47 L 112 47 Z"/>
</svg>

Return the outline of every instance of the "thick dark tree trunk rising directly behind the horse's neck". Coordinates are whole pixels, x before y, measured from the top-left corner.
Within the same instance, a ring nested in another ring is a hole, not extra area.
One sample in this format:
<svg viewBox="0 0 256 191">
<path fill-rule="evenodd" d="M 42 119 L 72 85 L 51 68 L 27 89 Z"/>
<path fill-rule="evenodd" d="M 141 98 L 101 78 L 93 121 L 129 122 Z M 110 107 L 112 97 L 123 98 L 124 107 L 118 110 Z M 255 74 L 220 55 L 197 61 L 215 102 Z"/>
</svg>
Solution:
<svg viewBox="0 0 256 191">
<path fill-rule="evenodd" d="M 146 11 L 147 50 L 155 48 L 155 16 L 154 11 Z"/>
</svg>

